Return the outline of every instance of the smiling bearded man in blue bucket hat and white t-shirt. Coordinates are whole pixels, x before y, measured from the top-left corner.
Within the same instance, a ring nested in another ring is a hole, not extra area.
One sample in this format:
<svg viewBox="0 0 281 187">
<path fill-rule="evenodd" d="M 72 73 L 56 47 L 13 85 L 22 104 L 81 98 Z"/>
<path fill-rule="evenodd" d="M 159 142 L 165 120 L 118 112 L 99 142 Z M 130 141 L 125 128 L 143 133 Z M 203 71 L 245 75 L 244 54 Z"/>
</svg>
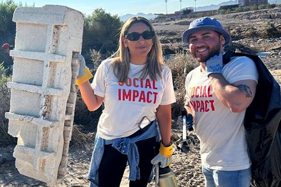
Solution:
<svg viewBox="0 0 281 187">
<path fill-rule="evenodd" d="M 223 64 L 223 47 L 230 43 L 231 35 L 214 18 L 191 22 L 182 41 L 200 62 L 186 76 L 184 108 L 192 114 L 200 140 L 205 185 L 249 187 L 251 163 L 243 122 L 256 92 L 255 63 L 247 57 L 234 57 Z"/>
</svg>

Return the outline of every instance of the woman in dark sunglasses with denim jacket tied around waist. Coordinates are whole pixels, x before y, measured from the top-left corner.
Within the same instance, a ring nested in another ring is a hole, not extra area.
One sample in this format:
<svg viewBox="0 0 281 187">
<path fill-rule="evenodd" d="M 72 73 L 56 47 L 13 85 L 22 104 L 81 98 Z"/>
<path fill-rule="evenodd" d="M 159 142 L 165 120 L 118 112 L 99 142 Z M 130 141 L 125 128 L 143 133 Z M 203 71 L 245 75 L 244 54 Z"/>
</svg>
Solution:
<svg viewBox="0 0 281 187">
<path fill-rule="evenodd" d="M 130 187 L 146 187 L 153 164 L 165 167 L 172 159 L 171 104 L 176 101 L 172 73 L 163 62 L 152 25 L 143 17 L 124 23 L 113 57 L 101 63 L 92 84 L 79 57 L 76 84 L 85 104 L 91 111 L 105 105 L 88 180 L 92 187 L 119 187 L 129 163 Z M 160 151 L 155 150 L 159 135 Z"/>
</svg>

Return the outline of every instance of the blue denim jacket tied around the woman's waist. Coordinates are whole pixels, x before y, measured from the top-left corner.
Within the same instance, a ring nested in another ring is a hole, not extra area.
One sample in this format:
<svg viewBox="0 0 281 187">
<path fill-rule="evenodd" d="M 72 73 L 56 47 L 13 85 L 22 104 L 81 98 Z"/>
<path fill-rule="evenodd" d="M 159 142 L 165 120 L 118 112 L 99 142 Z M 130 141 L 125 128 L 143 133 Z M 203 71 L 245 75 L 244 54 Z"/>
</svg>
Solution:
<svg viewBox="0 0 281 187">
<path fill-rule="evenodd" d="M 139 151 L 136 142 L 145 140 L 159 135 L 157 121 L 147 128 L 139 136 L 133 138 L 116 138 L 112 140 L 105 140 L 101 138 L 98 133 L 95 138 L 95 147 L 90 163 L 90 170 L 88 173 L 88 181 L 98 186 L 98 170 L 104 154 L 104 146 L 112 144 L 112 147 L 118 150 L 120 153 L 128 156 L 128 162 L 130 166 L 129 179 L 135 181 L 140 179 L 140 168 L 139 168 Z M 159 139 L 159 137 L 157 138 Z M 94 187 L 91 184 L 91 187 Z"/>
</svg>

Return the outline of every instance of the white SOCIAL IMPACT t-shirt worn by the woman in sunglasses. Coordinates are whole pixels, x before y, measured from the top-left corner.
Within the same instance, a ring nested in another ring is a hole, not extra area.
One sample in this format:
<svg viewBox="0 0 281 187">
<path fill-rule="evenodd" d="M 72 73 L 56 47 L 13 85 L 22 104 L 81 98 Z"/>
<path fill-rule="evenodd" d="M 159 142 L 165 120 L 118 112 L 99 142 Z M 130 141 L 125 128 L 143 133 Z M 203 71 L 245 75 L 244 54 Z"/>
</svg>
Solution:
<svg viewBox="0 0 281 187">
<path fill-rule="evenodd" d="M 163 79 L 153 81 L 149 76 L 140 79 L 138 72 L 143 66 L 130 63 L 128 80 L 124 84 L 118 83 L 111 59 L 99 65 L 92 88 L 96 95 L 104 97 L 105 108 L 97 130 L 102 138 L 130 136 L 156 119 L 159 105 L 176 102 L 171 70 L 162 66 Z"/>
</svg>

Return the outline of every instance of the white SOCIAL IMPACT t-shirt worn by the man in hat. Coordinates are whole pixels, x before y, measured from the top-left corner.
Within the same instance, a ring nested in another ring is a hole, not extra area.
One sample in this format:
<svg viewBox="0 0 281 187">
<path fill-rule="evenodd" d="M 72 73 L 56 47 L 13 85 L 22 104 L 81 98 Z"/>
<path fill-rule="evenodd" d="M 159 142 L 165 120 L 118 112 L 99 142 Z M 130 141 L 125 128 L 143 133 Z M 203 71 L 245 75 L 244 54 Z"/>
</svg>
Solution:
<svg viewBox="0 0 281 187">
<path fill-rule="evenodd" d="M 255 63 L 247 57 L 234 57 L 221 70 L 230 84 L 240 80 L 258 80 Z M 211 82 L 201 67 L 186 77 L 186 99 L 195 114 L 196 134 L 200 139 L 201 159 L 214 170 L 242 170 L 250 167 L 247 155 L 245 111 L 233 113 L 212 91 Z"/>
</svg>

